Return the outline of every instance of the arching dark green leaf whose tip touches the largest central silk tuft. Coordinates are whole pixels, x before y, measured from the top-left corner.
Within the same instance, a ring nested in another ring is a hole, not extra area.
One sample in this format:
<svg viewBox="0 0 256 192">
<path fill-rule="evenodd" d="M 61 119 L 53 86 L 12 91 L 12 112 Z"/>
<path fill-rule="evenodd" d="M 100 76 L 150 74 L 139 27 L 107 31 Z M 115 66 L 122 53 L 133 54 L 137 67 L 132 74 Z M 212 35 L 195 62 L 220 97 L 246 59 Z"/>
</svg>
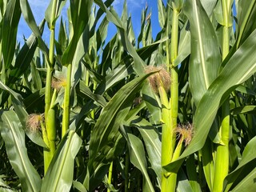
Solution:
<svg viewBox="0 0 256 192">
<path fill-rule="evenodd" d="M 101 150 L 102 146 L 110 140 L 112 141 L 112 138 L 118 132 L 119 127 L 114 126 L 114 124 L 120 124 L 122 123 L 122 120 L 126 118 L 126 115 L 117 118 L 119 111 L 126 110 L 132 105 L 135 94 L 141 89 L 142 82 L 144 82 L 149 75 L 150 74 L 146 74 L 139 78 L 135 78 L 125 86 L 122 86 L 102 110 L 102 114 L 99 116 L 90 138 L 89 155 L 91 161 L 96 158 L 96 155 Z"/>
</svg>

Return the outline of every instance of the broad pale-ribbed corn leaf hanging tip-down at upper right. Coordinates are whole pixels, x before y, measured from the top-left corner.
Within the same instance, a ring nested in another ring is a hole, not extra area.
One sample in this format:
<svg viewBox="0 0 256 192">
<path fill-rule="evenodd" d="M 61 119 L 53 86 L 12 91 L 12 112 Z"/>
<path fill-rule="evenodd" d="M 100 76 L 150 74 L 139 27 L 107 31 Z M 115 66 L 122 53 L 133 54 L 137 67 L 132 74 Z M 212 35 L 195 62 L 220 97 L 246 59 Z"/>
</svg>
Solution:
<svg viewBox="0 0 256 192">
<path fill-rule="evenodd" d="M 191 56 L 190 90 L 196 106 L 218 75 L 221 64 L 218 40 L 214 28 L 200 1 L 187 1 L 184 13 L 190 20 Z"/>
</svg>

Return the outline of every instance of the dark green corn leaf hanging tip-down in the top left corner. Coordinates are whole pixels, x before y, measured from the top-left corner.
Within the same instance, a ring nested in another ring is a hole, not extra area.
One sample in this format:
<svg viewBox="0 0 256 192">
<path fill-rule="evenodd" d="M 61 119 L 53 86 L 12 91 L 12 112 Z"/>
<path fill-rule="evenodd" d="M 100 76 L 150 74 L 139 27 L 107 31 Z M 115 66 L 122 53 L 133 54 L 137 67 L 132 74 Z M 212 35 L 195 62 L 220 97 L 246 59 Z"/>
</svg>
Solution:
<svg viewBox="0 0 256 192">
<path fill-rule="evenodd" d="M 21 8 L 18 0 L 10 0 L 6 6 L 6 13 L 2 22 L 2 56 L 6 69 L 9 69 L 14 58 L 18 22 Z"/>
</svg>

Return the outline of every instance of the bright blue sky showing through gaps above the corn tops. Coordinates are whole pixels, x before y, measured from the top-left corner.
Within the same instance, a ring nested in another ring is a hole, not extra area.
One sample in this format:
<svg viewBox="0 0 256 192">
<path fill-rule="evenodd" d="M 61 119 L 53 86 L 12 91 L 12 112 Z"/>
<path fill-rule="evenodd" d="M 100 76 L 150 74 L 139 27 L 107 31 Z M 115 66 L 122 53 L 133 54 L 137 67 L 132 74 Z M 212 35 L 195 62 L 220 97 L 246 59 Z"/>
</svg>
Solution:
<svg viewBox="0 0 256 192">
<path fill-rule="evenodd" d="M 45 11 L 50 0 L 28 0 L 28 2 L 30 3 L 31 10 L 33 11 L 34 18 L 36 22 L 39 24 L 44 18 Z M 69 1 L 67 1 L 66 7 L 62 11 L 62 17 L 64 21 L 66 20 L 66 8 L 68 6 L 68 2 Z M 116 10 L 119 15 L 122 14 L 123 2 L 124 0 L 114 0 L 114 3 L 112 4 L 114 6 L 114 10 Z M 166 0 L 164 0 L 163 2 L 166 3 Z M 157 0 L 148 0 L 148 1 L 127 0 L 128 13 L 131 14 L 132 16 L 134 33 L 138 37 L 138 34 L 140 32 L 140 26 L 141 26 L 141 13 L 142 13 L 142 9 L 145 9 L 146 4 L 149 7 L 148 10 L 152 11 L 152 14 L 151 14 L 152 31 L 153 31 L 153 37 L 155 37 L 155 35 L 161 30 L 158 22 L 158 1 Z M 58 27 L 58 24 L 57 24 L 57 27 Z M 108 31 L 109 31 L 109 36 L 112 36 L 116 32 L 115 26 L 110 24 Z M 30 28 L 26 25 L 24 18 L 21 18 L 18 26 L 18 42 L 22 43 L 23 36 L 25 38 L 29 38 L 30 34 L 31 34 Z M 43 34 L 43 39 L 46 41 L 46 43 L 49 42 L 49 36 L 50 34 L 46 26 L 45 32 Z"/>
</svg>

